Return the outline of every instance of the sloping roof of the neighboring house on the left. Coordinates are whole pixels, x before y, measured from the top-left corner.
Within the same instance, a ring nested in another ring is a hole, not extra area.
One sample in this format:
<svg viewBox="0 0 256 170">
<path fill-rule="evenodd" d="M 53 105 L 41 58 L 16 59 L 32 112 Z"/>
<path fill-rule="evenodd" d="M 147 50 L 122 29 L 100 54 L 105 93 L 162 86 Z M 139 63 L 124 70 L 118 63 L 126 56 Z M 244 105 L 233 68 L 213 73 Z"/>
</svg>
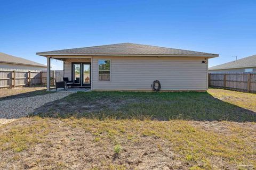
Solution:
<svg viewBox="0 0 256 170">
<path fill-rule="evenodd" d="M 20 65 L 31 65 L 38 67 L 47 67 L 44 64 L 36 63 L 25 58 L 15 57 L 9 54 L 0 52 L 0 63 L 9 63 L 9 64 L 20 64 Z"/>
</svg>

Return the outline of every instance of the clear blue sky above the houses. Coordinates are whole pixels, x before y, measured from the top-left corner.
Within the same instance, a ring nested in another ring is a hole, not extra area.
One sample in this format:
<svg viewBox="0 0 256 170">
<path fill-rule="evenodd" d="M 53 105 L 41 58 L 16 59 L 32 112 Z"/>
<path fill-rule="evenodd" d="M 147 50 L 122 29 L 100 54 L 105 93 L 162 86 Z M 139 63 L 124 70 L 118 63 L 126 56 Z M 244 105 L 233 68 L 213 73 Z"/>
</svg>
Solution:
<svg viewBox="0 0 256 170">
<path fill-rule="evenodd" d="M 256 54 L 255 9 L 256 1 L 1 1 L 0 52 L 46 64 L 36 52 L 138 43 L 219 54 L 214 66 Z"/>
</svg>

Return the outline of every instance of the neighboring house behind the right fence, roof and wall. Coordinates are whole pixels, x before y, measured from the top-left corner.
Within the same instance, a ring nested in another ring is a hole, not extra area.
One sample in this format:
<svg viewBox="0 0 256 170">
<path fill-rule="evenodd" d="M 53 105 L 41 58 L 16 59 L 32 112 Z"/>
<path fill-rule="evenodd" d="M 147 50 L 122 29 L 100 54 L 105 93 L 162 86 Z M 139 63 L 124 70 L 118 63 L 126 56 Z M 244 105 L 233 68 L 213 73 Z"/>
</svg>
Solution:
<svg viewBox="0 0 256 170">
<path fill-rule="evenodd" d="M 256 55 L 209 68 L 209 73 L 221 72 L 256 72 Z"/>
</svg>

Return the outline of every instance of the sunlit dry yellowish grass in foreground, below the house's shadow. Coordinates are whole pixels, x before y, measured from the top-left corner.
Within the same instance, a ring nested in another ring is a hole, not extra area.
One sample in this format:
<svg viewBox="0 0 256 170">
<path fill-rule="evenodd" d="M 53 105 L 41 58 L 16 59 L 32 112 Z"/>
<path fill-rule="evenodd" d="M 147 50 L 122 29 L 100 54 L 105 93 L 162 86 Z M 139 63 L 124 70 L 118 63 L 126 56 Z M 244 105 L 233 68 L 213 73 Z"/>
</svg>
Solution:
<svg viewBox="0 0 256 170">
<path fill-rule="evenodd" d="M 236 122 L 22 118 L 1 128 L 0 168 L 253 169 L 255 128 Z"/>
</svg>

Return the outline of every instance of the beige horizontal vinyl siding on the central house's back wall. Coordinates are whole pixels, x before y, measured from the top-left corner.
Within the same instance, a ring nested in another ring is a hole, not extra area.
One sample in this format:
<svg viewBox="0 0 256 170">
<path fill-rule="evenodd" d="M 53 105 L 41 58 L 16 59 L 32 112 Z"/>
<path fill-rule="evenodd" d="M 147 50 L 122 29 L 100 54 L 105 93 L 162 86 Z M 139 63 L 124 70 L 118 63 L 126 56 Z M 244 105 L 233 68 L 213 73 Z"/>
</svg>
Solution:
<svg viewBox="0 0 256 170">
<path fill-rule="evenodd" d="M 98 80 L 98 60 L 110 59 L 110 81 Z M 207 90 L 207 64 L 197 57 L 93 57 L 92 90 Z"/>
</svg>

